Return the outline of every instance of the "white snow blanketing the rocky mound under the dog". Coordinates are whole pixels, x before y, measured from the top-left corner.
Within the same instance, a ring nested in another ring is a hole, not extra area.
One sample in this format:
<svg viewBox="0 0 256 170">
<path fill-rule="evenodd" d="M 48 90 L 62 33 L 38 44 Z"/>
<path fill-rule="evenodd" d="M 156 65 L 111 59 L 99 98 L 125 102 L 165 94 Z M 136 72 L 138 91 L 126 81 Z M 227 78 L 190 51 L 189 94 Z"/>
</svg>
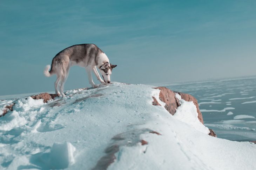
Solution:
<svg viewBox="0 0 256 170">
<path fill-rule="evenodd" d="M 172 116 L 152 87 L 113 82 L 48 103 L 18 99 L 0 118 L 0 169 L 256 169 L 256 145 L 209 136 L 179 96 Z"/>
</svg>

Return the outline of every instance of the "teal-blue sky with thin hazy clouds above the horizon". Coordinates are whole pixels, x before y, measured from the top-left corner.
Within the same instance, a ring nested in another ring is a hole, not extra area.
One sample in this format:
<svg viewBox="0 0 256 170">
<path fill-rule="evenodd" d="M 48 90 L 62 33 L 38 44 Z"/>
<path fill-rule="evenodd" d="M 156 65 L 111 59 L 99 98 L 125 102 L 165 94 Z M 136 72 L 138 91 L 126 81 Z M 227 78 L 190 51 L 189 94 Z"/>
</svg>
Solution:
<svg viewBox="0 0 256 170">
<path fill-rule="evenodd" d="M 44 67 L 83 43 L 117 65 L 117 82 L 256 75 L 255 9 L 255 0 L 1 0 L 0 95 L 54 91 Z M 65 90 L 89 86 L 85 68 L 70 68 Z"/>
</svg>

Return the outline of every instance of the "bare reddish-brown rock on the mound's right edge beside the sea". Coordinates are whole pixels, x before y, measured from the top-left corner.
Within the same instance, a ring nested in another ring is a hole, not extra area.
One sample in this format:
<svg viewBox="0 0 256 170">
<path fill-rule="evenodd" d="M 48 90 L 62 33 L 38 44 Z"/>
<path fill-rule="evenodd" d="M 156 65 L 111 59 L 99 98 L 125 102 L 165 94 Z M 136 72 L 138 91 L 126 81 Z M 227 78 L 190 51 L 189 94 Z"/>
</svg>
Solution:
<svg viewBox="0 0 256 170">
<path fill-rule="evenodd" d="M 198 116 L 197 118 L 199 119 L 199 121 L 203 123 L 203 116 L 202 116 L 202 113 L 199 109 L 199 105 L 197 103 L 197 100 L 195 97 L 189 95 L 189 94 L 186 94 L 186 93 L 181 93 L 181 92 L 177 92 L 177 91 L 172 91 L 166 87 L 156 87 L 155 89 L 159 89 L 160 90 L 160 94 L 159 94 L 159 99 L 165 103 L 165 106 L 164 108 L 172 115 L 175 114 L 176 112 L 176 109 L 178 108 L 178 106 L 180 106 L 180 103 L 178 101 L 178 99 L 175 97 L 175 93 L 178 93 L 182 99 L 184 99 L 185 101 L 192 101 L 195 106 L 196 106 L 196 109 L 197 109 L 197 113 L 198 113 Z M 160 105 L 159 102 L 157 102 L 156 98 L 153 97 L 153 102 L 152 104 L 153 105 Z M 217 135 L 214 133 L 213 130 L 209 129 L 210 133 L 209 135 L 210 136 L 214 136 L 214 137 L 217 137 Z"/>
</svg>

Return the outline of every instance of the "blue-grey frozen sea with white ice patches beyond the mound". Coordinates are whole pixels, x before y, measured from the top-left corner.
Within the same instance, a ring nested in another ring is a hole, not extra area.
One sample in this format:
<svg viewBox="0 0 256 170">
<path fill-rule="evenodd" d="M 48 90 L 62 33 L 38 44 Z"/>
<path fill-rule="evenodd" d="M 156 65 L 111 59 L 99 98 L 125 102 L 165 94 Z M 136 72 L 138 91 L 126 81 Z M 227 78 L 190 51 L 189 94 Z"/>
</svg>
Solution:
<svg viewBox="0 0 256 170">
<path fill-rule="evenodd" d="M 204 124 L 218 138 L 256 140 L 256 76 L 162 86 L 196 97 Z"/>
</svg>

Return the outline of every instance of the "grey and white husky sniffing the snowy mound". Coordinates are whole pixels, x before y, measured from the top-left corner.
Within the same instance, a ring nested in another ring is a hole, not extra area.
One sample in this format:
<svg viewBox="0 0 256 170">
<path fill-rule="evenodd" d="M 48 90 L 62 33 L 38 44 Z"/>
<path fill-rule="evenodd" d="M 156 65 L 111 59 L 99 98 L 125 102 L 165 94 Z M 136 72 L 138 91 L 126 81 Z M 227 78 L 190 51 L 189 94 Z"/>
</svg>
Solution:
<svg viewBox="0 0 256 170">
<path fill-rule="evenodd" d="M 47 65 L 43 72 L 47 77 L 53 74 L 57 75 L 57 80 L 55 81 L 55 93 L 61 94 L 62 97 L 65 97 L 63 89 L 64 83 L 68 77 L 69 68 L 74 65 L 85 67 L 89 83 L 93 88 L 97 86 L 93 82 L 92 71 L 101 83 L 110 83 L 112 69 L 117 66 L 110 64 L 106 54 L 95 44 L 79 44 L 67 47 L 53 58 L 51 69 L 50 65 Z M 96 67 L 100 69 L 103 80 Z"/>
</svg>

